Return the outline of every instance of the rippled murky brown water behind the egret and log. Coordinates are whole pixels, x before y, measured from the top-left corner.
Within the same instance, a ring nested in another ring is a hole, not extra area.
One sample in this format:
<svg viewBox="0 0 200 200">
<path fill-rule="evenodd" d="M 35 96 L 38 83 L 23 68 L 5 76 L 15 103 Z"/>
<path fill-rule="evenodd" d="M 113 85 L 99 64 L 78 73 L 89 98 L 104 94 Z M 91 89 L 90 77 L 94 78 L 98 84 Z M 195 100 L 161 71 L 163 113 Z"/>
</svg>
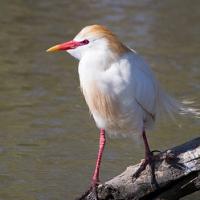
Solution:
<svg viewBox="0 0 200 200">
<path fill-rule="evenodd" d="M 80 94 L 77 61 L 47 54 L 83 26 L 110 27 L 152 65 L 177 98 L 200 98 L 200 1 L 0 2 L 0 200 L 66 200 L 87 188 L 98 130 Z M 199 136 L 200 122 L 166 121 L 153 149 Z M 108 139 L 102 181 L 143 157 L 141 145 Z M 199 193 L 185 199 L 198 199 Z"/>
</svg>

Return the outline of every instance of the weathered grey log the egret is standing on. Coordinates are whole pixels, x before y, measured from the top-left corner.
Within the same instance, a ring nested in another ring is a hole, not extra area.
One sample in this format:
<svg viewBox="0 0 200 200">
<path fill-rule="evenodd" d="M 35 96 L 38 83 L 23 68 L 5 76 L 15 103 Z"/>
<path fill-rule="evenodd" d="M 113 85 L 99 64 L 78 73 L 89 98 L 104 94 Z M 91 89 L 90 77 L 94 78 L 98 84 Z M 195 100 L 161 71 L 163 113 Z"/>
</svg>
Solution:
<svg viewBox="0 0 200 200">
<path fill-rule="evenodd" d="M 156 155 L 156 184 L 149 166 L 133 181 L 140 164 L 97 188 L 99 200 L 176 200 L 200 189 L 200 137 Z M 85 200 L 94 200 L 92 193 Z"/>
</svg>

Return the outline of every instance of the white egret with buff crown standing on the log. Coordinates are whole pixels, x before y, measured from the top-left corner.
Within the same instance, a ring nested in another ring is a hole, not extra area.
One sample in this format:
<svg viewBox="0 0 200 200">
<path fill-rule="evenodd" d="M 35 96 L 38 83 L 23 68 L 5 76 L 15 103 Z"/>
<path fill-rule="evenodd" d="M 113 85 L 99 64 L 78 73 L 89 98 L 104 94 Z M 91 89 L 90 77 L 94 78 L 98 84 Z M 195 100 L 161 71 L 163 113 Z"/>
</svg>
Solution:
<svg viewBox="0 0 200 200">
<path fill-rule="evenodd" d="M 99 183 L 100 163 L 106 134 L 142 136 L 145 159 L 138 177 L 153 159 L 146 131 L 160 113 L 179 109 L 177 102 L 159 86 L 149 65 L 101 25 L 83 28 L 73 40 L 47 51 L 64 50 L 79 59 L 80 86 L 89 110 L 100 129 L 99 152 L 92 177 L 92 188 Z"/>
</svg>

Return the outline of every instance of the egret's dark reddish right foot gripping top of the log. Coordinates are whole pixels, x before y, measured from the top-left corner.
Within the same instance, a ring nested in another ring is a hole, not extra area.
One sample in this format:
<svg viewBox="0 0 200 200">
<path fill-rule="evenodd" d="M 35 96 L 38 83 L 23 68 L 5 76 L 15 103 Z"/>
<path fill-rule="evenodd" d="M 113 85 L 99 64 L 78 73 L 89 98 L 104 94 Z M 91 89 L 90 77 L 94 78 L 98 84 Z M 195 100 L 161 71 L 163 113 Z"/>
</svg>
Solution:
<svg viewBox="0 0 200 200">
<path fill-rule="evenodd" d="M 155 178 L 155 160 L 157 159 L 157 155 L 154 153 L 160 153 L 160 151 L 150 151 L 146 156 L 145 159 L 141 161 L 139 168 L 136 172 L 132 175 L 133 182 L 140 176 L 140 174 L 146 169 L 147 165 L 149 165 L 150 173 L 151 173 L 151 183 L 157 185 L 156 178 Z"/>
</svg>

